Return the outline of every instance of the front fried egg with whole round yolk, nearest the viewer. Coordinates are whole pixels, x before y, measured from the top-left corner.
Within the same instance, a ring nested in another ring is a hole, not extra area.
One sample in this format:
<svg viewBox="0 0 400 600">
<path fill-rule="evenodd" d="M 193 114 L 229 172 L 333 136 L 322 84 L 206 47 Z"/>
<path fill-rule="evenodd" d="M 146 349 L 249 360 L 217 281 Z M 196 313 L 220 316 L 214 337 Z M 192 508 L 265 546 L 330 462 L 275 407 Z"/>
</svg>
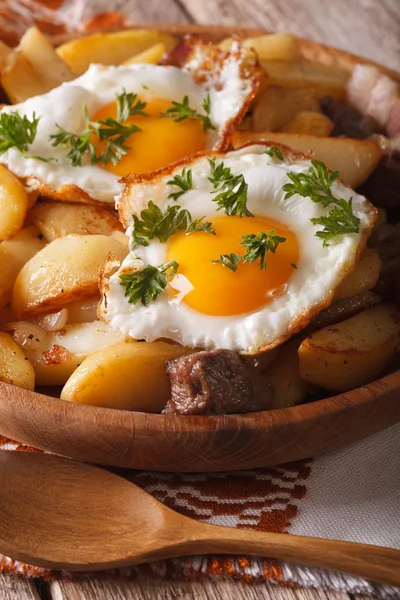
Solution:
<svg viewBox="0 0 400 600">
<path fill-rule="evenodd" d="M 148 240 L 137 245 L 119 269 L 102 282 L 101 316 L 123 334 L 153 341 L 168 338 L 185 346 L 228 348 L 244 354 L 271 349 L 302 329 L 329 305 L 336 287 L 356 265 L 370 234 L 376 209 L 363 196 L 339 181 L 332 192 L 352 198 L 359 231 L 330 240 L 316 236 L 322 225 L 311 219 L 327 216 L 332 206 L 294 194 L 285 199 L 282 189 L 289 173 L 308 173 L 311 162 L 288 152 L 285 160 L 256 145 L 227 154 L 203 154 L 160 170 L 149 177 L 131 177 L 120 198 L 120 216 L 132 238 L 134 220 L 150 201 L 165 209 L 178 203 L 193 219 L 206 216 L 215 235 L 180 231 L 165 243 Z M 248 186 L 247 209 L 253 216 L 228 216 L 213 200 L 209 159 L 223 161 L 232 175 L 243 175 Z M 168 199 L 171 179 L 192 173 L 192 189 L 177 201 Z M 284 238 L 275 253 L 268 252 L 266 268 L 260 261 L 241 262 L 236 271 L 213 262 L 222 254 L 243 255 L 242 236 L 274 231 Z M 131 244 L 132 248 L 132 244 Z M 174 260 L 179 268 L 164 292 L 148 306 L 130 304 L 120 275 Z"/>
</svg>

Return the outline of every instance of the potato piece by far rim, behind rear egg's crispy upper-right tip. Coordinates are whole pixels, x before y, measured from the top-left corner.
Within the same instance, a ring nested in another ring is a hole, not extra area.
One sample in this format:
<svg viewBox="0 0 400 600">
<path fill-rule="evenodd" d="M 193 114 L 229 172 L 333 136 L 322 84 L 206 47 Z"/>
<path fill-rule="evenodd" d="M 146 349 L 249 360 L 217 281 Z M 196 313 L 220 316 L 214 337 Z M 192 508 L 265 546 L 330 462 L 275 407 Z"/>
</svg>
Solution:
<svg viewBox="0 0 400 600">
<path fill-rule="evenodd" d="M 222 50 L 229 50 L 233 38 L 226 38 L 218 45 Z M 299 54 L 299 42 L 290 33 L 268 33 L 257 37 L 242 40 L 245 48 L 252 48 L 257 52 L 259 60 L 296 60 Z"/>
</svg>

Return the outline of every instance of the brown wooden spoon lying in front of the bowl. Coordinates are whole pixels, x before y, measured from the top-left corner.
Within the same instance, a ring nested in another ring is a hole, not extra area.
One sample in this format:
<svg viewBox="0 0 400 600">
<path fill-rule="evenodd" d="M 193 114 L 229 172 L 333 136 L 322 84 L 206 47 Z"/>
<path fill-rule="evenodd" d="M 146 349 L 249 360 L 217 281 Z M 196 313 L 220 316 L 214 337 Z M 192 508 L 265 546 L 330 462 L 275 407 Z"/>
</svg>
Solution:
<svg viewBox="0 0 400 600">
<path fill-rule="evenodd" d="M 184 517 L 134 484 L 48 454 L 0 452 L 0 552 L 69 571 L 203 553 L 273 556 L 400 585 L 400 551 L 217 527 Z"/>
</svg>

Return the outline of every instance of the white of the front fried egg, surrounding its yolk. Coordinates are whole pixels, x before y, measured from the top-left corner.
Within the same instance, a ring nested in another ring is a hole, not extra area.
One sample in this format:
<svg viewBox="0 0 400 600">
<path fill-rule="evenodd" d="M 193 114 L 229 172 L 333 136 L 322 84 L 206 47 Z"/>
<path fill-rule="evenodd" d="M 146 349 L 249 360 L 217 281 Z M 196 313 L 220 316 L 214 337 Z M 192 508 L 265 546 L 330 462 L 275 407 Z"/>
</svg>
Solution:
<svg viewBox="0 0 400 600">
<path fill-rule="evenodd" d="M 307 172 L 310 161 L 281 162 L 266 155 L 265 149 L 265 146 L 247 147 L 219 156 L 217 160 L 222 159 L 233 174 L 244 175 L 248 184 L 247 207 L 254 215 L 279 221 L 296 234 L 299 260 L 297 270 L 293 269 L 287 282 L 286 292 L 257 312 L 225 317 L 202 314 L 184 301 L 174 303 L 168 293 L 160 294 L 148 307 L 141 303 L 129 304 L 120 285 L 121 270 L 160 265 L 167 260 L 168 243 L 151 240 L 148 247 L 138 246 L 131 251 L 120 270 L 104 285 L 102 315 L 113 327 L 125 335 L 147 341 L 162 337 L 185 346 L 228 348 L 251 354 L 274 347 L 288 337 L 288 332 L 293 333 L 296 323 L 301 322 L 304 327 L 318 307 L 330 303 L 335 288 L 354 266 L 376 211 L 363 196 L 342 183 L 334 183 L 334 194 L 346 200 L 353 198 L 353 212 L 361 225 L 359 233 L 339 236 L 324 248 L 322 240 L 315 235 L 321 226 L 313 225 L 310 219 L 327 215 L 329 208 L 324 209 L 320 203 L 297 194 L 285 200 L 282 191 L 282 186 L 289 181 L 288 172 Z M 207 220 L 212 221 L 213 217 L 221 216 L 212 201 L 215 194 L 211 194 L 212 184 L 208 181 L 207 157 L 196 158 L 185 166 L 192 170 L 194 189 L 179 198 L 180 206 L 188 209 L 193 219 L 206 215 Z M 132 232 L 132 219 L 128 215 L 140 213 L 150 200 L 160 207 L 172 203 L 167 200 L 171 192 L 167 181 L 181 170 L 181 166 L 176 167 L 169 175 L 146 183 L 133 183 L 125 190 L 121 208 L 130 220 L 128 235 Z M 240 276 L 239 270 L 236 274 Z"/>
</svg>

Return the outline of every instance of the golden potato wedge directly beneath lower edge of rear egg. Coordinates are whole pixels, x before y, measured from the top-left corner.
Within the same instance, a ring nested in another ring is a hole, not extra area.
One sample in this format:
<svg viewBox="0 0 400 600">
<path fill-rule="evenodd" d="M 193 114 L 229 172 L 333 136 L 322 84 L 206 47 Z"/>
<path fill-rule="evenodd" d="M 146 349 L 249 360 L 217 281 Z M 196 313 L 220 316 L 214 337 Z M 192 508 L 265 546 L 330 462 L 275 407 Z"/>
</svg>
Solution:
<svg viewBox="0 0 400 600">
<path fill-rule="evenodd" d="M 29 215 L 47 242 L 70 234 L 111 235 L 115 230 L 122 231 L 114 213 L 88 204 L 40 202 Z"/>
</svg>

